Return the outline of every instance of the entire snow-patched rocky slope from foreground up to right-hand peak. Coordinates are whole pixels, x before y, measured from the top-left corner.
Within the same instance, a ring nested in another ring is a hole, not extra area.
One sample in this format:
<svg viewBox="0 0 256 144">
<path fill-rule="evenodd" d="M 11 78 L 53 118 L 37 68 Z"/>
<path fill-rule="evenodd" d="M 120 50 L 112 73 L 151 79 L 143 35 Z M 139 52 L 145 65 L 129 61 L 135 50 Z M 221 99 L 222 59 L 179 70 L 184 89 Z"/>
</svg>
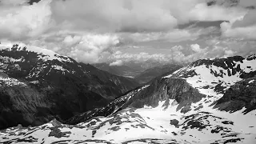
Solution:
<svg viewBox="0 0 256 144">
<path fill-rule="evenodd" d="M 0 142 L 253 144 L 255 71 L 255 55 L 198 60 L 67 124 L 2 130 Z"/>
</svg>

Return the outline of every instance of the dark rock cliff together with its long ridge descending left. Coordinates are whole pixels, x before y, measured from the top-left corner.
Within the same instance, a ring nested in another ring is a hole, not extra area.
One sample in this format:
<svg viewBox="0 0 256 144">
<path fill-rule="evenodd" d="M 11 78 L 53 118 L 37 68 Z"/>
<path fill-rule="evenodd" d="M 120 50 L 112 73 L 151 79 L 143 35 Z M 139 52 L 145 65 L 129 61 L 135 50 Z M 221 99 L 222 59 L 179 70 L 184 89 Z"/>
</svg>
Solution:
<svg viewBox="0 0 256 144">
<path fill-rule="evenodd" d="M 204 97 L 204 94 L 200 94 L 198 90 L 190 86 L 184 79 L 158 78 L 152 82 L 150 86 L 138 87 L 135 90 L 123 94 L 120 98 L 116 98 L 105 107 L 78 114 L 65 123 L 78 124 L 79 122 L 86 122 L 93 117 L 109 116 L 126 107 L 155 107 L 158 106 L 159 101 L 166 101 L 164 106 L 167 108 L 171 105 L 170 99 L 174 99 L 175 102 L 177 102 L 178 110 L 181 110 L 182 113 L 186 113 L 190 110 L 190 105 L 193 102 L 199 102 Z"/>
</svg>

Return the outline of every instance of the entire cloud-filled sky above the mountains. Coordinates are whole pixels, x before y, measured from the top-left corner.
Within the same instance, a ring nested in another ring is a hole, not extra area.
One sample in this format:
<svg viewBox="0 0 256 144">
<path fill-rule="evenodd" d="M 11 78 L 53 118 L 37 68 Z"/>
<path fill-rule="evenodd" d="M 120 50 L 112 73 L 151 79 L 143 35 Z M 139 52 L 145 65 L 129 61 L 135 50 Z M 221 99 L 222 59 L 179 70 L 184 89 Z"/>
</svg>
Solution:
<svg viewBox="0 0 256 144">
<path fill-rule="evenodd" d="M 256 53 L 255 0 L 0 0 L 0 42 L 78 62 L 194 62 Z"/>
</svg>

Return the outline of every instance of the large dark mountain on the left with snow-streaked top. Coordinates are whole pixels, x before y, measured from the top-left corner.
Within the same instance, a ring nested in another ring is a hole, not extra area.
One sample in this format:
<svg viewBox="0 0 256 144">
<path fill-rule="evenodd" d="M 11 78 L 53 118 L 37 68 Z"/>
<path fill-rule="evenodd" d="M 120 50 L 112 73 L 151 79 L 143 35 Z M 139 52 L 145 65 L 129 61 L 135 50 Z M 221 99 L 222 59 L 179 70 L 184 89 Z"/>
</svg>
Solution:
<svg viewBox="0 0 256 144">
<path fill-rule="evenodd" d="M 18 45 L 0 50 L 0 129 L 19 123 L 38 126 L 55 117 L 66 120 L 106 106 L 138 86 L 132 79 L 52 53 Z"/>
</svg>

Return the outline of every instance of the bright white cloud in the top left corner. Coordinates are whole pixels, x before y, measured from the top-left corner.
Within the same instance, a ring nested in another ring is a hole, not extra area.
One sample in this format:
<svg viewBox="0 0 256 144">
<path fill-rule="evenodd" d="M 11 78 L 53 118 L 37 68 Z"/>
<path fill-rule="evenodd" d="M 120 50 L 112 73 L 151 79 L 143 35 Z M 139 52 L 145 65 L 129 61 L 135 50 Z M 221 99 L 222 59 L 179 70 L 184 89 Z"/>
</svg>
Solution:
<svg viewBox="0 0 256 144">
<path fill-rule="evenodd" d="M 3 2 L 0 6 L 0 38 L 10 40 L 33 38 L 43 34 L 49 28 L 51 16 L 49 0 L 33 6 L 11 7 L 6 6 L 6 1 Z M 17 1 L 15 4 L 24 2 L 26 1 Z"/>
</svg>

